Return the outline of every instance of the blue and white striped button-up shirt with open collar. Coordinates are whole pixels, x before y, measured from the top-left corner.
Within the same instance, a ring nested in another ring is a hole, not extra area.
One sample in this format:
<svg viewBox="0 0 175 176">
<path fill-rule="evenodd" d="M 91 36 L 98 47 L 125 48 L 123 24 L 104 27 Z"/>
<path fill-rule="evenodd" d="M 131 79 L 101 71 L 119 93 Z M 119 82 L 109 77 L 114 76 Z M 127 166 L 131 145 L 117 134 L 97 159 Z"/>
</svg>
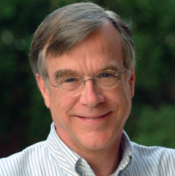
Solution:
<svg viewBox="0 0 175 176">
<path fill-rule="evenodd" d="M 123 132 L 121 162 L 111 176 L 175 176 L 175 150 L 130 142 Z M 58 137 L 54 124 L 46 141 L 0 159 L 0 176 L 95 176 L 88 163 Z"/>
</svg>

